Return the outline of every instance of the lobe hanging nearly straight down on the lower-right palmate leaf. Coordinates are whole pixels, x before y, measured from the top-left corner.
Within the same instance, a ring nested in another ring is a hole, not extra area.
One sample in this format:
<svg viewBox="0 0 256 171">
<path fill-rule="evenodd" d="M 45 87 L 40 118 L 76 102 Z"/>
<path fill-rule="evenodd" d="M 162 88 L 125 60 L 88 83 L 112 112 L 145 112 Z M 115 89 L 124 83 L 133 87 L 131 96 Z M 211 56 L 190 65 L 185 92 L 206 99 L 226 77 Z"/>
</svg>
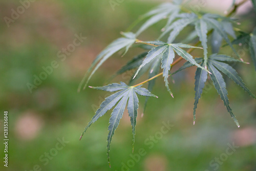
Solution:
<svg viewBox="0 0 256 171">
<path fill-rule="evenodd" d="M 203 63 L 201 64 L 201 66 L 203 67 Z M 201 94 L 203 93 L 203 88 L 204 88 L 204 84 L 207 80 L 207 72 L 202 70 L 201 68 L 197 68 L 196 71 L 196 76 L 195 76 L 195 103 L 194 103 L 194 124 L 196 121 L 196 109 L 197 109 L 197 104 L 199 102 L 199 99 L 201 97 Z"/>
</svg>

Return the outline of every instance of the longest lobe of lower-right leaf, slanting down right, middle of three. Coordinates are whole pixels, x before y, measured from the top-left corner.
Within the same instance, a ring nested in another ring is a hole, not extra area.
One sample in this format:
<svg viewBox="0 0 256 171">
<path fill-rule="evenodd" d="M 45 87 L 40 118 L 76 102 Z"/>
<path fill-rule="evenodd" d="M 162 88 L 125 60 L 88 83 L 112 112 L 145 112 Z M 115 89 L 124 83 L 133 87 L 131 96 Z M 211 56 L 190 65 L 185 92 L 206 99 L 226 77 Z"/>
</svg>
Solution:
<svg viewBox="0 0 256 171">
<path fill-rule="evenodd" d="M 208 69 L 212 73 L 212 74 L 210 74 L 210 78 L 214 82 L 215 89 L 221 96 L 221 99 L 223 100 L 228 113 L 231 115 L 231 117 L 233 118 L 233 120 L 237 124 L 237 126 L 240 127 L 238 120 L 236 119 L 236 116 L 234 116 L 234 114 L 229 106 L 229 100 L 227 97 L 228 94 L 227 94 L 227 90 L 226 90 L 226 83 L 225 83 L 221 73 L 209 62 L 208 62 Z"/>
</svg>

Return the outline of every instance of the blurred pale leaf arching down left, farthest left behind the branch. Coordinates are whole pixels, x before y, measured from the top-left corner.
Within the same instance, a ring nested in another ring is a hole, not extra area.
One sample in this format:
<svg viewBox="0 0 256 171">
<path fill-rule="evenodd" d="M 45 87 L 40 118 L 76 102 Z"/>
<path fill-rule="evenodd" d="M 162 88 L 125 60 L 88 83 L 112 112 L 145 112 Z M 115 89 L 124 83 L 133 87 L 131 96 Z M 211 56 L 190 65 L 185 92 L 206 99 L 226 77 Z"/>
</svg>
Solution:
<svg viewBox="0 0 256 171">
<path fill-rule="evenodd" d="M 82 81 L 79 84 L 78 91 L 80 91 L 83 83 L 84 84 L 83 89 L 87 87 L 87 84 L 93 74 L 97 71 L 97 69 L 102 65 L 102 63 L 107 60 L 110 56 L 112 56 L 114 53 L 118 52 L 119 50 L 125 48 L 124 54 L 129 50 L 129 48 L 134 44 L 136 41 L 135 34 L 132 32 L 128 33 L 122 33 L 124 37 L 118 38 L 114 40 L 108 47 L 106 47 L 92 62 L 91 67 L 88 69 L 87 73 L 84 75 Z M 123 54 L 123 55 L 124 55 Z M 94 68 L 95 67 L 95 68 Z M 94 69 L 93 69 L 94 68 Z M 91 73 L 91 74 L 90 74 Z M 90 74 L 90 75 L 89 75 Z M 89 77 L 88 77 L 89 76 Z"/>
</svg>

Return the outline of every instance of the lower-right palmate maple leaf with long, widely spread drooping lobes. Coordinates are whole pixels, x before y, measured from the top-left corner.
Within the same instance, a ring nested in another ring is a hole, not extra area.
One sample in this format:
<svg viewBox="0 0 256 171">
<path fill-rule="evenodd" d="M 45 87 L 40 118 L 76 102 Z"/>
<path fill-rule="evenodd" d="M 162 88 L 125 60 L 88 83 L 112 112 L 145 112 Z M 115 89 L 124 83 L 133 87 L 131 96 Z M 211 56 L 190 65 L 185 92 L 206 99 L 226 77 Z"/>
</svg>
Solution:
<svg viewBox="0 0 256 171">
<path fill-rule="evenodd" d="M 203 60 L 204 60 L 204 58 L 196 58 L 197 63 L 201 63 L 202 67 L 204 66 Z M 209 71 L 212 73 L 212 74 L 210 74 L 210 78 L 214 82 L 214 86 L 215 86 L 217 92 L 220 94 L 221 99 L 223 100 L 224 105 L 227 108 L 227 111 L 230 113 L 231 117 L 234 119 L 236 124 L 239 126 L 238 121 L 236 120 L 236 117 L 234 117 L 232 110 L 229 106 L 229 100 L 227 97 L 227 90 L 226 90 L 226 83 L 225 83 L 220 71 L 223 74 L 227 75 L 235 83 L 237 83 L 250 96 L 252 96 L 253 98 L 256 98 L 256 97 L 245 86 L 245 83 L 243 82 L 242 78 L 238 75 L 237 71 L 234 70 L 230 65 L 228 65 L 225 62 L 242 62 L 242 63 L 246 63 L 246 62 L 243 62 L 238 59 L 234 59 L 230 56 L 218 55 L 218 54 L 212 54 L 211 56 L 209 56 L 208 62 L 207 62 L 207 67 L 208 67 Z M 194 66 L 194 65 L 192 65 L 189 62 L 185 62 L 184 65 L 179 70 L 174 72 L 173 74 L 175 74 L 181 70 L 184 70 L 188 67 L 191 67 L 191 66 Z M 201 68 L 197 68 L 195 80 L 196 80 L 195 81 L 196 94 L 195 94 L 195 103 L 194 103 L 194 124 L 195 124 L 195 119 L 196 119 L 195 115 L 196 115 L 197 104 L 198 104 L 201 94 L 203 92 L 204 84 L 207 80 L 207 73 L 204 70 L 202 70 Z"/>
</svg>

